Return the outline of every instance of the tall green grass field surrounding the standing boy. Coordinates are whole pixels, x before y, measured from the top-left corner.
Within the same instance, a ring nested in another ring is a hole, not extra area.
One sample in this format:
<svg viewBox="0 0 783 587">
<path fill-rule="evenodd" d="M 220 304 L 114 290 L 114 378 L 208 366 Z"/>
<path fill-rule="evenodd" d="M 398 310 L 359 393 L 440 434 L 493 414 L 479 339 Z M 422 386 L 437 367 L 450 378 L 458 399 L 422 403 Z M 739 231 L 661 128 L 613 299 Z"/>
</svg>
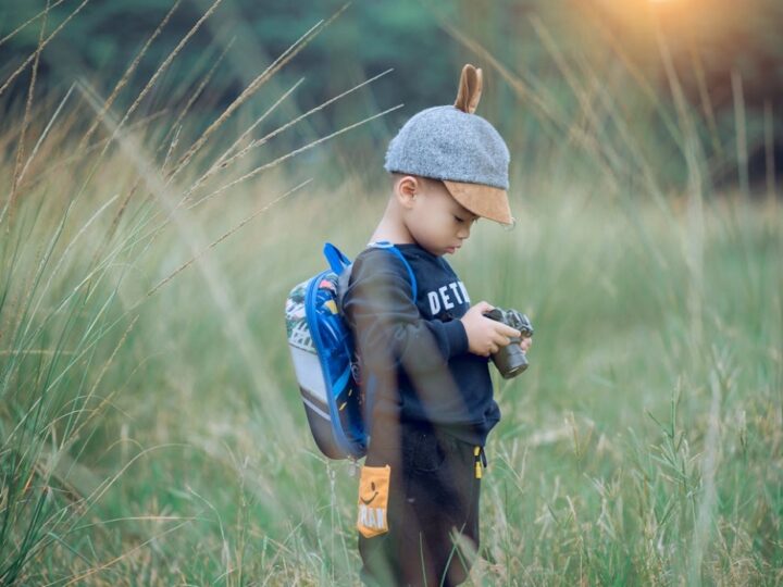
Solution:
<svg viewBox="0 0 783 587">
<path fill-rule="evenodd" d="M 105 98 L 82 79 L 32 110 L 10 105 L 2 583 L 357 583 L 357 479 L 309 437 L 283 305 L 323 266 L 323 241 L 350 257 L 363 248 L 386 193 L 356 170 L 326 189 L 319 168 L 285 168 L 299 149 L 259 164 L 281 128 L 226 124 L 326 24 L 207 130 L 188 126 L 191 101 L 150 113 L 145 96 L 126 96 L 137 62 Z M 601 122 L 627 104 L 596 85 L 599 65 L 577 67 L 545 23 L 535 29 L 574 109 L 535 86 L 519 97 L 562 146 L 544 166 L 514 161 L 518 226 L 480 223 L 449 259 L 474 302 L 536 325 L 532 367 L 510 382 L 494 374 L 504 417 L 487 447 L 471 580 L 779 584 L 780 207 L 705 187 L 705 123 L 671 68 L 671 97 L 641 91 L 686 160 L 685 188 L 669 192 L 639 130 Z M 204 89 L 194 79 L 194 95 Z"/>
</svg>

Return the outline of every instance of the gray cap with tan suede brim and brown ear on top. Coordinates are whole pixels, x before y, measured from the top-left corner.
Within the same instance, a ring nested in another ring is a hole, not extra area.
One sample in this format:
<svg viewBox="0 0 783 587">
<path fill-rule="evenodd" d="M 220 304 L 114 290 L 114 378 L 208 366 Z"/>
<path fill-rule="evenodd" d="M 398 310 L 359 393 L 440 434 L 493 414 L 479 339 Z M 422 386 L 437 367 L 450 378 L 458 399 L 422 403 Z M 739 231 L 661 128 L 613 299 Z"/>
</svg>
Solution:
<svg viewBox="0 0 783 587">
<path fill-rule="evenodd" d="M 453 105 L 427 108 L 411 116 L 389 142 L 384 168 L 440 179 L 474 214 L 513 224 L 508 202 L 509 150 L 500 134 L 474 114 L 483 74 L 462 67 Z"/>
</svg>

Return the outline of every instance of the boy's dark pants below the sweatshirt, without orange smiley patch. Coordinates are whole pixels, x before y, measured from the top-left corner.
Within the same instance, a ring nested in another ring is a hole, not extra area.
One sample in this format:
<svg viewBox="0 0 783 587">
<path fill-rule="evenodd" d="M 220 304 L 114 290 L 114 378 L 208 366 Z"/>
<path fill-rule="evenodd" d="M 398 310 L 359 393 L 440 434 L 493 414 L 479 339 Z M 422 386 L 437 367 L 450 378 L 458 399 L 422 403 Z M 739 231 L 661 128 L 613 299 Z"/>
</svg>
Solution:
<svg viewBox="0 0 783 587">
<path fill-rule="evenodd" d="M 435 587 L 468 578 L 478 550 L 474 448 L 422 425 L 373 434 L 364 464 L 391 467 L 388 532 L 358 535 L 362 583 Z"/>
</svg>

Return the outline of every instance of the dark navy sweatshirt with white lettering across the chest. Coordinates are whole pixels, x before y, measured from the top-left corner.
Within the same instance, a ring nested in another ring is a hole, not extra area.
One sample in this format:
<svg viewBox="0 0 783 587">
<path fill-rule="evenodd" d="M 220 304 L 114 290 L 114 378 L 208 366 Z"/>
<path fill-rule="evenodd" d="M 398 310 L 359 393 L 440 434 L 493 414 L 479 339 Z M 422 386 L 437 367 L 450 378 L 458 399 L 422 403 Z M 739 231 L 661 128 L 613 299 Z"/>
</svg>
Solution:
<svg viewBox="0 0 783 587">
<path fill-rule="evenodd" d="M 470 309 L 462 282 L 442 257 L 415 243 L 396 245 L 415 275 L 393 251 L 368 248 L 357 255 L 341 310 L 368 373 L 377 379 L 374 422 L 424 422 L 484 446 L 500 420 L 488 358 L 468 351 L 459 317 Z M 390 420 L 389 420 L 390 421 Z"/>
</svg>

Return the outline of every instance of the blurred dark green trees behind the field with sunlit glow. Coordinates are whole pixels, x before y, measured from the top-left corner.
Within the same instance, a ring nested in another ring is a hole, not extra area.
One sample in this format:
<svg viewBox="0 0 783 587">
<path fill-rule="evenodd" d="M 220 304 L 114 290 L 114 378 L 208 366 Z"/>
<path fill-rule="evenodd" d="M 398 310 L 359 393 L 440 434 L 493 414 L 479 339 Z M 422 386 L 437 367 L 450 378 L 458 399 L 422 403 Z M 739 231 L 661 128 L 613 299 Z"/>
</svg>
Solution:
<svg viewBox="0 0 783 587">
<path fill-rule="evenodd" d="M 51 32 L 83 0 L 49 3 L 46 26 Z M 80 78 L 107 96 L 175 7 L 129 79 L 140 89 L 211 4 L 211 0 L 86 2 L 42 53 L 40 91 L 61 88 L 62 93 Z M 1 2 L 0 38 L 46 5 L 46 0 Z M 164 102 L 171 105 L 172 93 L 176 102 L 185 103 L 225 53 L 212 73 L 209 91 L 191 109 L 208 124 L 264 67 L 344 5 L 343 0 L 223 0 L 177 54 L 177 66 L 166 71 L 146 100 L 145 112 L 152 113 Z M 330 162 L 357 170 L 362 180 L 376 182 L 383 173 L 380 153 L 394 132 L 423 108 L 451 103 L 460 67 L 472 62 L 485 70 L 478 114 L 507 137 L 518 172 L 524 173 L 529 164 L 548 164 L 536 153 L 550 153 L 550 143 L 573 138 L 573 129 L 558 118 L 571 121 L 573 116 L 567 114 L 575 109 L 586 112 L 585 102 L 598 102 L 599 86 L 605 84 L 621 86 L 627 100 L 606 104 L 597 115 L 627 116 L 633 118 L 627 124 L 648 125 L 648 149 L 668 162 L 668 179 L 676 189 L 686 172 L 683 158 L 674 155 L 674 73 L 684 98 L 703 114 L 698 132 L 711 162 L 706 175 L 720 185 L 772 191 L 768 184 L 783 168 L 781 29 L 783 4 L 778 0 L 357 0 L 244 107 L 238 124 L 260 115 L 301 77 L 302 85 L 270 124 L 289 121 L 394 68 L 276 138 L 279 152 L 286 152 L 402 103 L 403 108 L 344 135 L 328 151 L 330 158 L 337 158 Z M 35 51 L 39 33 L 40 18 L 0 43 L 1 78 Z M 600 70 L 596 64 L 601 64 Z M 7 114 L 24 103 L 25 84 L 15 84 L 11 91 L 16 95 L 0 105 Z M 128 91 L 126 100 L 136 93 Z M 669 130 L 661 114 L 669 116 Z M 597 137 L 604 138 L 610 137 Z M 327 157 L 316 151 L 308 157 Z M 623 166 L 622 161 L 610 164 Z M 631 180 L 633 165 L 627 173 Z"/>
</svg>

